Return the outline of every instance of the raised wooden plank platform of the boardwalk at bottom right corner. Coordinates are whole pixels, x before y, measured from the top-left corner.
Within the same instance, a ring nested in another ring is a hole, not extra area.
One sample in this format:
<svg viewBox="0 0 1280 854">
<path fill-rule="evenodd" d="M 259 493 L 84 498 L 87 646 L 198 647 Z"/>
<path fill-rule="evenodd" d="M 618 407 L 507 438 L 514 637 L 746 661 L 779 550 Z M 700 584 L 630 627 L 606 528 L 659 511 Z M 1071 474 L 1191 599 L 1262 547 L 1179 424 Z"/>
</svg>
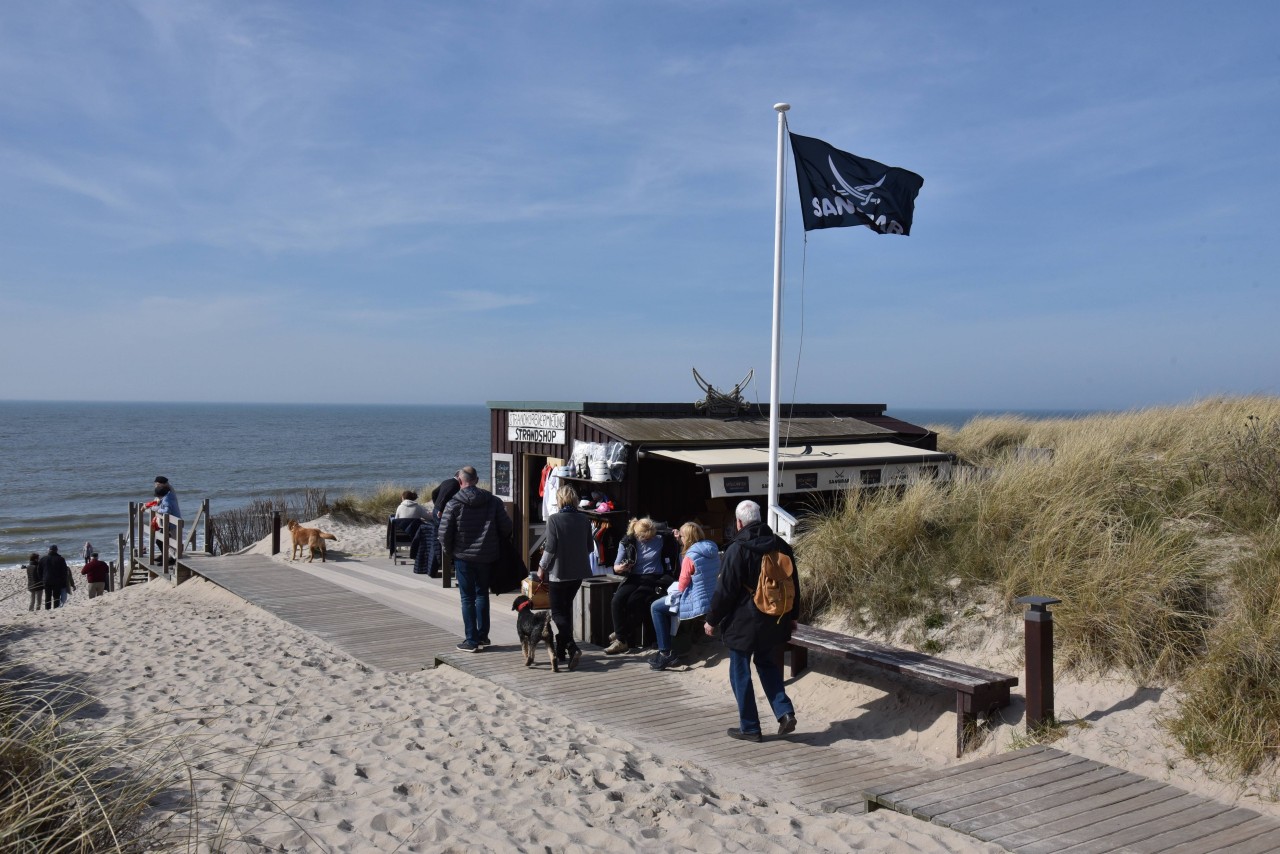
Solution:
<svg viewBox="0 0 1280 854">
<path fill-rule="evenodd" d="M 1280 822 L 1101 762 L 1034 746 L 865 793 L 872 809 L 1025 854 L 1280 851 Z"/>
</svg>

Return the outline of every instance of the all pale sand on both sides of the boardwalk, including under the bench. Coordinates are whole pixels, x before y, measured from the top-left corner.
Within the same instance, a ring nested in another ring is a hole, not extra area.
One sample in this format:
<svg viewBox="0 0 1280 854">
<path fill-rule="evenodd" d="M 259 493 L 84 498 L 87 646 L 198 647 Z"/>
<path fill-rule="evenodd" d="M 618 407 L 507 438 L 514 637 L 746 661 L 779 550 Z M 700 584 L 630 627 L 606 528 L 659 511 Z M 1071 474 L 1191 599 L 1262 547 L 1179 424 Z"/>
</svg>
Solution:
<svg viewBox="0 0 1280 854">
<path fill-rule="evenodd" d="M 340 579 L 351 575 L 344 561 L 385 557 L 381 526 L 315 524 L 339 539 L 334 560 L 308 572 Z M 285 534 L 278 560 L 287 554 Z M 0 574 L 0 597 L 24 588 L 19 575 Z M 744 794 L 694 763 L 449 667 L 371 671 L 201 580 L 95 602 L 81 588 L 68 607 L 35 615 L 26 604 L 20 592 L 0 606 L 5 656 L 78 680 L 100 699 L 102 722 L 182 735 L 206 772 L 197 781 L 200 837 L 223 834 L 239 842 L 232 850 L 998 850 L 884 810 L 814 814 Z M 503 617 L 494 612 L 495 622 Z M 1021 675 L 1020 618 L 992 611 L 968 626 L 947 657 Z M 803 721 L 831 722 L 928 764 L 956 762 L 950 698 L 812 663 L 788 688 Z M 728 691 L 723 662 L 695 658 L 684 677 L 690 690 Z M 1074 723 L 1053 746 L 1280 816 L 1265 775 L 1219 781 L 1180 757 L 1158 726 L 1172 699 L 1166 691 L 1073 676 L 1056 690 L 1060 718 Z M 1016 746 L 1020 697 L 1006 713 L 1009 725 L 964 761 Z M 166 822 L 189 831 L 180 816 Z"/>
</svg>

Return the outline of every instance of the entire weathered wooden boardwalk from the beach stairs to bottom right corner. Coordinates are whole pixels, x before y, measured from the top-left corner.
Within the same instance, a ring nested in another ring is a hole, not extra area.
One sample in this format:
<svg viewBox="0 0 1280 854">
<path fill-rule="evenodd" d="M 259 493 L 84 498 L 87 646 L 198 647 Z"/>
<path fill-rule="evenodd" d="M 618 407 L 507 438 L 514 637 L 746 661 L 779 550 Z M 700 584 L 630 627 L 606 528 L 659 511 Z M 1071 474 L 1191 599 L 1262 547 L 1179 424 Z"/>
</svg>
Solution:
<svg viewBox="0 0 1280 854">
<path fill-rule="evenodd" d="M 1280 822 L 1052 748 L 950 768 L 852 741 L 800 709 L 787 739 L 735 741 L 728 686 L 710 693 L 641 657 L 584 644 L 575 672 L 545 653 L 524 667 L 507 597 L 493 603 L 494 647 L 454 649 L 457 594 L 388 560 L 293 565 L 260 556 L 187 557 L 183 566 L 379 670 L 448 665 L 671 759 L 712 769 L 735 789 L 813 810 L 892 808 L 1012 851 L 1280 851 Z M 540 650 L 541 652 L 541 650 Z M 767 714 L 767 712 L 765 712 Z M 768 725 L 767 725 L 768 726 Z"/>
</svg>

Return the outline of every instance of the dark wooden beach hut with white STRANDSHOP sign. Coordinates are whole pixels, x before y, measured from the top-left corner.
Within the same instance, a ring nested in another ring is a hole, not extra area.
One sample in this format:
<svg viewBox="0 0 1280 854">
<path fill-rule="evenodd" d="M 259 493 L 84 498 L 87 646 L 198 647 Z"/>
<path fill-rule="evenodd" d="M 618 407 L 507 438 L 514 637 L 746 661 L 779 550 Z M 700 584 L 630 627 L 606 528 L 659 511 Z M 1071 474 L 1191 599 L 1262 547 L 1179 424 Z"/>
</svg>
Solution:
<svg viewBox="0 0 1280 854">
<path fill-rule="evenodd" d="M 562 478 L 605 522 L 604 551 L 632 516 L 672 528 L 701 522 L 718 543 L 733 534 L 744 498 L 764 504 L 769 419 L 745 406 L 709 415 L 700 403 L 490 401 L 490 483 L 516 524 L 516 542 L 536 552 L 545 529 L 545 485 Z M 803 515 L 847 489 L 947 480 L 954 457 L 937 434 L 884 415 L 881 403 L 804 403 L 781 425 L 780 501 Z M 598 511 L 603 501 L 612 510 Z"/>
</svg>

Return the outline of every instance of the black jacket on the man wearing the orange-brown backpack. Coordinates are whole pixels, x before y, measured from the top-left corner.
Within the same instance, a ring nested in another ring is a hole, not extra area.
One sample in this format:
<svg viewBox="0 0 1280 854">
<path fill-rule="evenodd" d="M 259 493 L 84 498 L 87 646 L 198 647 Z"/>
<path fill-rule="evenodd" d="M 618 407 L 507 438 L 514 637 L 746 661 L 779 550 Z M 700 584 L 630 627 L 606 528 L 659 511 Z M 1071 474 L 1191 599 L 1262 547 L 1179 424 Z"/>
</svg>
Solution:
<svg viewBox="0 0 1280 854">
<path fill-rule="evenodd" d="M 774 549 L 788 556 L 795 565 L 791 545 L 764 522 L 754 522 L 740 530 L 724 549 L 707 622 L 719 626 L 724 645 L 730 649 L 767 653 L 791 638 L 791 624 L 800 617 L 799 567 L 791 576 L 796 595 L 790 613 L 781 620 L 771 617 L 760 613 L 753 600 L 755 585 L 760 580 L 760 563 Z"/>
</svg>

